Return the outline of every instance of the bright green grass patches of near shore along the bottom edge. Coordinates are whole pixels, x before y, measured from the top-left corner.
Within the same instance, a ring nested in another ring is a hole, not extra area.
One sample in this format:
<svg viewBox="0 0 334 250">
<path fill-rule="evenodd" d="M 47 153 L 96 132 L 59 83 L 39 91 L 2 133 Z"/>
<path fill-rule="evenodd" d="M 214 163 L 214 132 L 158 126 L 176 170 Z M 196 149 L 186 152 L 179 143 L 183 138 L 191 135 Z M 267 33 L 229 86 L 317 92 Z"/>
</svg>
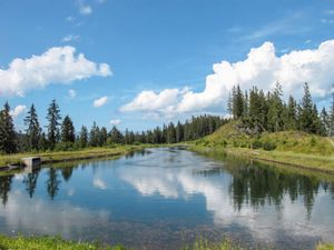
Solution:
<svg viewBox="0 0 334 250">
<path fill-rule="evenodd" d="M 1 250 L 127 250 L 121 246 L 101 246 L 98 243 L 85 243 L 66 241 L 61 238 L 55 237 L 22 237 L 10 238 L 7 236 L 0 236 L 0 249 Z M 228 240 L 224 240 L 219 243 L 210 243 L 209 241 L 199 240 L 194 246 L 184 248 L 183 250 L 246 250 L 230 243 Z M 318 244 L 316 250 L 334 250 L 334 244 Z"/>
</svg>

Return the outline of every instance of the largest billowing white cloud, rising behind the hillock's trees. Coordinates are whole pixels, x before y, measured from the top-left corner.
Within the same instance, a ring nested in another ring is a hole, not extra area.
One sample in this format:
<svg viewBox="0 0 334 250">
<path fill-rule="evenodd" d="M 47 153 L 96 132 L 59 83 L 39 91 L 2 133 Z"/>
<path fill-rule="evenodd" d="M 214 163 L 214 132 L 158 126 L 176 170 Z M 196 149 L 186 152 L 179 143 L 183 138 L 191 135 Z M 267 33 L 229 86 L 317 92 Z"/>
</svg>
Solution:
<svg viewBox="0 0 334 250">
<path fill-rule="evenodd" d="M 275 82 L 283 84 L 285 93 L 301 97 L 304 82 L 310 83 L 315 98 L 324 99 L 334 79 L 334 40 L 327 40 L 316 49 L 293 50 L 276 56 L 272 42 L 264 42 L 250 49 L 247 58 L 237 62 L 222 61 L 213 66 L 213 73 L 206 77 L 202 92 L 189 89 L 166 89 L 161 92 L 143 91 L 121 111 L 160 111 L 183 113 L 204 111 L 224 106 L 233 86 L 243 89 L 257 86 L 269 90 Z"/>
</svg>

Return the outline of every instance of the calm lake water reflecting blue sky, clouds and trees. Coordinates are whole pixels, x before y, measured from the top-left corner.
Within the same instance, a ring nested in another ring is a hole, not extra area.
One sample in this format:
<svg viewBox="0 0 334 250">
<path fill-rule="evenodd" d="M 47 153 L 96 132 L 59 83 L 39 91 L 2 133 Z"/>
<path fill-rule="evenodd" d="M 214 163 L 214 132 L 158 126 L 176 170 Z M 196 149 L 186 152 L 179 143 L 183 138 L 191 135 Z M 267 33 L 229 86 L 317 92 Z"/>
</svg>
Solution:
<svg viewBox="0 0 334 250">
<path fill-rule="evenodd" d="M 180 149 L 68 164 L 0 177 L 1 233 L 136 249 L 178 249 L 199 236 L 275 249 L 334 242 L 330 177 Z"/>
</svg>

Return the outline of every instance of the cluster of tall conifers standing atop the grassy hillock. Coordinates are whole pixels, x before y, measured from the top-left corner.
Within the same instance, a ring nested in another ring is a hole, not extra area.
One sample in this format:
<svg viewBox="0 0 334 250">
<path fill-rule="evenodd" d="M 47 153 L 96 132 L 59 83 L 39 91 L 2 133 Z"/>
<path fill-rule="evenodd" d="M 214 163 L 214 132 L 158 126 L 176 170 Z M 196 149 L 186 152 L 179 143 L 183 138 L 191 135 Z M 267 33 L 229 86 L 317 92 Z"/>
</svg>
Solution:
<svg viewBox="0 0 334 250">
<path fill-rule="evenodd" d="M 240 119 L 252 133 L 299 130 L 320 136 L 334 136 L 334 92 L 332 107 L 318 111 L 312 100 L 308 84 L 304 84 L 304 96 L 297 101 L 289 96 L 285 102 L 282 86 L 277 82 L 273 91 L 264 92 L 253 87 L 243 91 L 233 87 L 228 99 L 228 110 L 234 119 Z"/>
</svg>

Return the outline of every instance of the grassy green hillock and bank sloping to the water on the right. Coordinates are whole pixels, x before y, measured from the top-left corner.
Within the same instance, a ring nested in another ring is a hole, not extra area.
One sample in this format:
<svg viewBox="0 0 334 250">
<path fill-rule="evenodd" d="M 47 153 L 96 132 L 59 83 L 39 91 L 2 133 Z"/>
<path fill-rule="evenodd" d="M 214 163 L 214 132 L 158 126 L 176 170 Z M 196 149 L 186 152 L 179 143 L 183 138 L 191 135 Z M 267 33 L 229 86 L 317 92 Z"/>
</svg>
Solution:
<svg viewBox="0 0 334 250">
<path fill-rule="evenodd" d="M 334 173 L 334 141 L 299 131 L 247 134 L 239 122 L 229 122 L 215 133 L 189 147 L 197 152 L 226 152 L 255 160 L 271 161 Z"/>
</svg>

